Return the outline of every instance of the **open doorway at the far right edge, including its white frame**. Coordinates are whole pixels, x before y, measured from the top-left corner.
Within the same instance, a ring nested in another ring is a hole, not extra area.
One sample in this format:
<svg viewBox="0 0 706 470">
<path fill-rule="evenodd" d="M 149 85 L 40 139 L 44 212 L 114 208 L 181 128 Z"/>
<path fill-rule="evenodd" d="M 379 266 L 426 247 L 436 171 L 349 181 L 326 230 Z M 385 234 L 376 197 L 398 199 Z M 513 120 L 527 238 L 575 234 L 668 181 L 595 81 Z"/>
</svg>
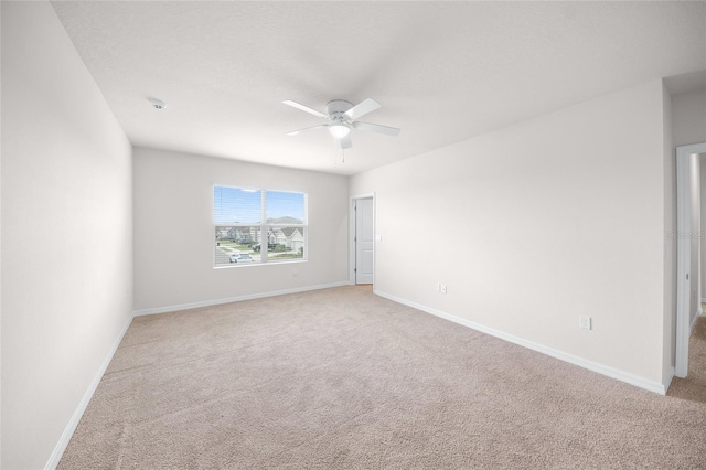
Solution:
<svg viewBox="0 0 706 470">
<path fill-rule="evenodd" d="M 676 148 L 676 338 L 674 374 L 686 377 L 688 339 L 700 311 L 699 153 L 706 142 Z"/>
</svg>

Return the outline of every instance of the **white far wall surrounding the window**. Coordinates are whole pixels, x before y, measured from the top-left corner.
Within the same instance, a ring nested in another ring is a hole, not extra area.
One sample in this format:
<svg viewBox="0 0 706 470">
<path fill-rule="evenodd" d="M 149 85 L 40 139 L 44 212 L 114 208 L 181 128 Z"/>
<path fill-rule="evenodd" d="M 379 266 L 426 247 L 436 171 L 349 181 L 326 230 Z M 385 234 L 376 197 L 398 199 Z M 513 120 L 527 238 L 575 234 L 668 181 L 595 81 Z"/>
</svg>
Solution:
<svg viewBox="0 0 706 470">
<path fill-rule="evenodd" d="M 345 177 L 136 148 L 133 178 L 138 312 L 347 280 Z M 309 260 L 214 269 L 214 184 L 308 193 Z"/>
</svg>

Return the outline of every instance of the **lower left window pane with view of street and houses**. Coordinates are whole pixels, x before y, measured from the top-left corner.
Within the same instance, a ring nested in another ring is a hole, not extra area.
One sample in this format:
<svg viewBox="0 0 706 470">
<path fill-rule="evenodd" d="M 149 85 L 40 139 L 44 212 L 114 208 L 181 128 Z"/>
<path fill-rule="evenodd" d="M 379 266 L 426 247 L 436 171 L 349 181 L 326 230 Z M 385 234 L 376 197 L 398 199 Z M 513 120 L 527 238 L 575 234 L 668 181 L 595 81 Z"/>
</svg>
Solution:
<svg viewBox="0 0 706 470">
<path fill-rule="evenodd" d="M 259 225 L 247 227 L 216 225 L 215 231 L 214 259 L 216 266 L 233 266 L 261 260 Z"/>
</svg>

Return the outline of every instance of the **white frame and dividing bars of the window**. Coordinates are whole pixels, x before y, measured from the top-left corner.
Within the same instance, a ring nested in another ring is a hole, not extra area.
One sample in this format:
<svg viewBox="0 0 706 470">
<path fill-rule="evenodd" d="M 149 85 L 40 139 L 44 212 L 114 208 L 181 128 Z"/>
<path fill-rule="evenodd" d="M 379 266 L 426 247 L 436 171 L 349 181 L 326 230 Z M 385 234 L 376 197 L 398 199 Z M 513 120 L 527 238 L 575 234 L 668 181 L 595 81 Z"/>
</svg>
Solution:
<svg viewBox="0 0 706 470">
<path fill-rule="evenodd" d="M 248 223 L 234 223 L 234 224 L 216 224 L 215 221 L 215 206 L 213 202 L 213 196 L 216 188 L 229 188 L 240 191 L 252 191 L 252 192 L 260 192 L 260 223 L 259 224 L 248 224 Z M 293 193 L 293 194 L 302 194 L 304 199 L 304 213 L 303 213 L 303 224 L 271 224 L 267 223 L 267 193 L 268 192 L 278 192 L 278 193 Z M 258 226 L 260 231 L 260 260 L 247 264 L 228 264 L 228 265 L 217 265 L 215 258 L 216 246 L 213 247 L 213 268 L 234 268 L 234 267 L 245 267 L 245 266 L 261 266 L 267 264 L 286 264 L 286 263 L 306 263 L 309 259 L 309 194 L 302 191 L 289 191 L 289 190 L 271 190 L 265 188 L 245 188 L 245 186 L 233 186 L 229 184 L 214 184 L 211 190 L 211 233 L 212 236 L 215 236 L 216 227 L 254 227 Z M 303 241 L 303 257 L 301 258 L 286 258 L 282 260 L 268 259 L 269 253 L 269 234 L 270 228 L 299 228 L 301 236 L 304 238 Z M 264 238 L 264 239 L 263 239 Z M 212 238 L 213 239 L 213 238 Z"/>
</svg>

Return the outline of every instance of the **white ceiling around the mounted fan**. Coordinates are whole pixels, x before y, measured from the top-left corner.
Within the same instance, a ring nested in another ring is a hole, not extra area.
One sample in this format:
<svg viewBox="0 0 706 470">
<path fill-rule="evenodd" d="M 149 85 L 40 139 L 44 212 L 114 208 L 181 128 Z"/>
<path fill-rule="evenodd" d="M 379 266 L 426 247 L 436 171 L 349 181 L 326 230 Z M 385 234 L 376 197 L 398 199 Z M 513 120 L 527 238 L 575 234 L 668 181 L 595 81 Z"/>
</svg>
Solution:
<svg viewBox="0 0 706 470">
<path fill-rule="evenodd" d="M 340 174 L 706 70 L 704 2 L 53 6 L 133 145 Z M 322 120 L 284 99 L 367 97 L 398 137 L 353 130 L 342 162 L 325 130 L 285 135 Z"/>
</svg>

